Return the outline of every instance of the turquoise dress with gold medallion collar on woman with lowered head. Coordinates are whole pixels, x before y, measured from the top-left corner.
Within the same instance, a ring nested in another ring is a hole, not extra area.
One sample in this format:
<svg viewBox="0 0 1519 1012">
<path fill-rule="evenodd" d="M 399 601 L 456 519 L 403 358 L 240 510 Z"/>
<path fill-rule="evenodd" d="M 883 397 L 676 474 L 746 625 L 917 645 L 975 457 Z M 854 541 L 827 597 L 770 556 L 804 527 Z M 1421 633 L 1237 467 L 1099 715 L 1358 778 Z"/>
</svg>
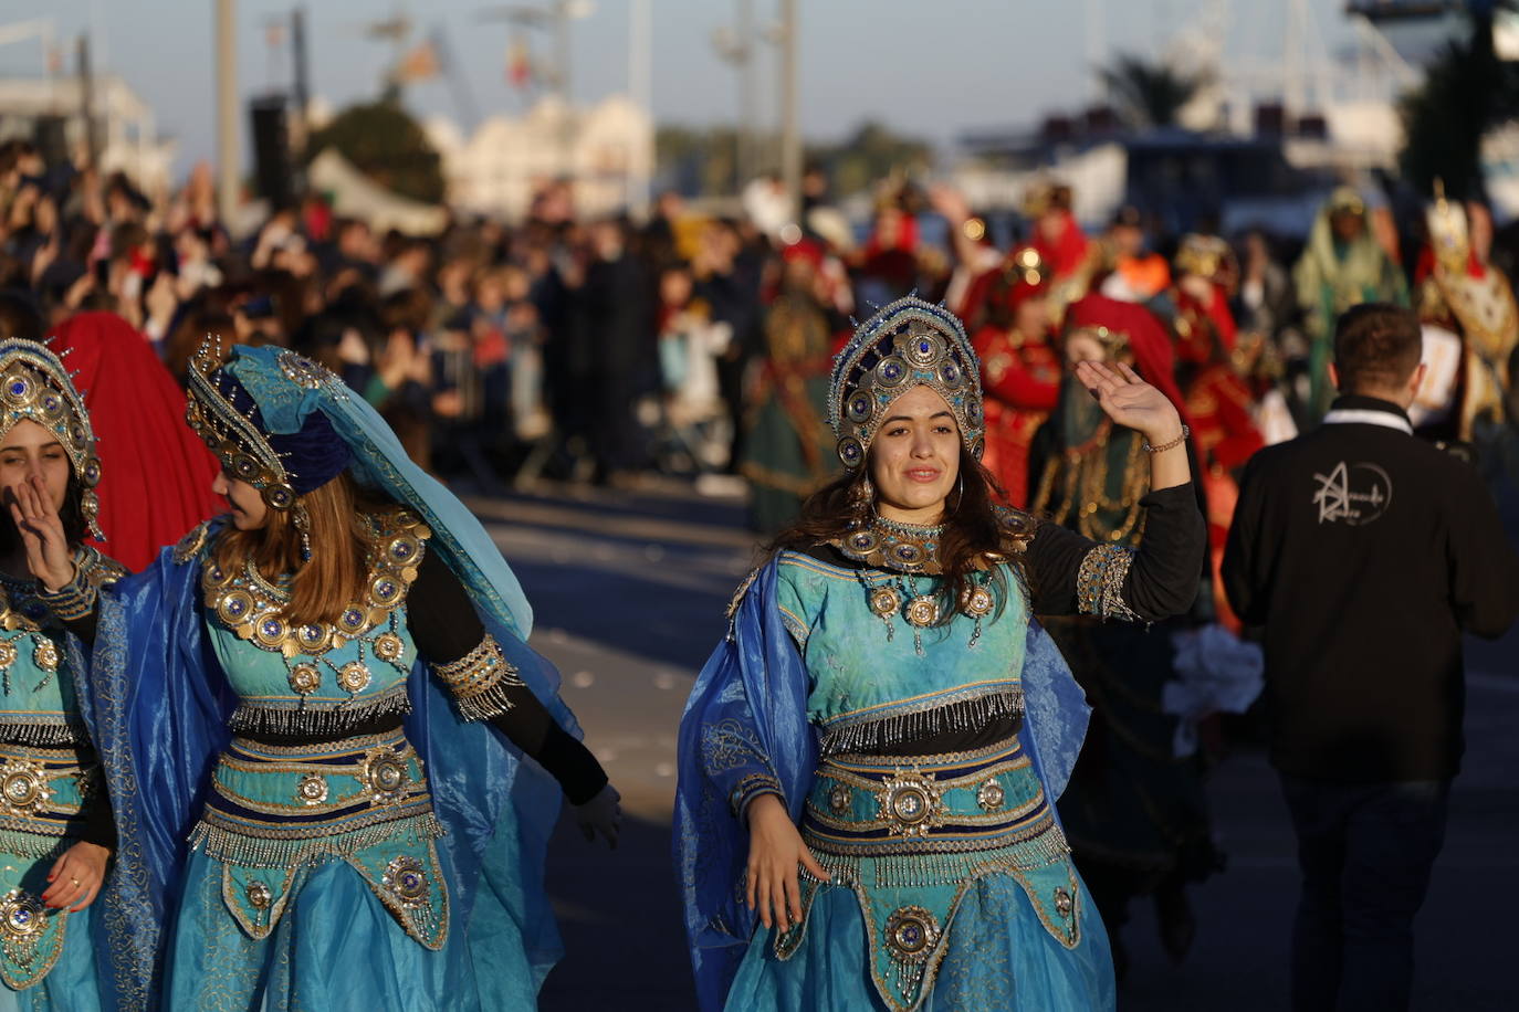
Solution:
<svg viewBox="0 0 1519 1012">
<path fill-rule="evenodd" d="M 190 833 L 170 1009 L 482 1007 L 463 932 L 450 930 L 431 780 L 399 727 L 418 660 L 407 592 L 430 531 L 401 510 L 372 523 L 365 596 L 334 625 L 287 624 L 284 586 L 223 570 L 204 530 L 176 549 L 201 566 L 205 634 L 237 704 Z M 488 652 L 433 668 L 466 716 L 521 687 Z M 492 974 L 533 982 L 515 941 Z"/>
</svg>

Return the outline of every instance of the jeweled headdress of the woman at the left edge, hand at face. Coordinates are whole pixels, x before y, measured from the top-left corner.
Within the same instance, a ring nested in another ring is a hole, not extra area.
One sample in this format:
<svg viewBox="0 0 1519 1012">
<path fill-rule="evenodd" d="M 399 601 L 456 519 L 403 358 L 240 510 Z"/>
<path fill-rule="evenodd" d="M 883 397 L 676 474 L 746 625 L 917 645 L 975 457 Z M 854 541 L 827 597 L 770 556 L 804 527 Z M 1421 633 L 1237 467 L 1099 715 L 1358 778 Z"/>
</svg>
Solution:
<svg viewBox="0 0 1519 1012">
<path fill-rule="evenodd" d="M 0 341 L 0 438 L 21 420 L 36 422 L 58 437 L 79 479 L 79 508 L 90 536 L 105 540 L 97 522 L 100 499 L 94 493 L 100 458 L 84 398 L 58 355 L 36 341 L 11 338 Z"/>
</svg>

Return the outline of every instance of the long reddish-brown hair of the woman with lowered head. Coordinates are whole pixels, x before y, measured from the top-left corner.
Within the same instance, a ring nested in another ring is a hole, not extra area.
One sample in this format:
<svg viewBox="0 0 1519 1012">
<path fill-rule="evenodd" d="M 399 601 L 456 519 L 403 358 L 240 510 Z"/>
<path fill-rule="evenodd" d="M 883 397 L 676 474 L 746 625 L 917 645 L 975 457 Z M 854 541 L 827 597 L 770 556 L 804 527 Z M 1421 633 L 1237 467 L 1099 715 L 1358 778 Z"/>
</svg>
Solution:
<svg viewBox="0 0 1519 1012">
<path fill-rule="evenodd" d="M 366 516 L 390 504 L 362 489 L 346 470 L 307 492 L 296 504 L 305 507 L 310 517 L 311 558 L 301 560 L 301 531 L 293 508 L 270 508 L 264 525 L 255 531 L 228 526 L 213 558 L 225 572 L 252 560 L 269 581 L 293 574 L 286 621 L 331 624 L 365 589 L 371 539 Z"/>
</svg>

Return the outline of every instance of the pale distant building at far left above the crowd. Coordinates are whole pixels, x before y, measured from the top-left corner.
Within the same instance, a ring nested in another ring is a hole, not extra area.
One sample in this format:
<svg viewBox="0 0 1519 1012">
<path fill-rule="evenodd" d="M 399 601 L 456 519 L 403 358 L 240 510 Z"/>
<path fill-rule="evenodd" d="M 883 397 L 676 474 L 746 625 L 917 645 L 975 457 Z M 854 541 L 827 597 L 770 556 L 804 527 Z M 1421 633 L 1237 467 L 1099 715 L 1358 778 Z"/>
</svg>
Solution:
<svg viewBox="0 0 1519 1012">
<path fill-rule="evenodd" d="M 94 79 L 91 118 L 102 171 L 125 171 L 155 197 L 169 193 L 179 144 L 158 137 L 153 111 L 125 80 L 109 74 Z M 81 79 L 0 77 L 0 141 L 15 137 L 33 141 L 50 161 L 85 152 Z M 49 150 L 55 146 L 61 150 Z"/>
</svg>

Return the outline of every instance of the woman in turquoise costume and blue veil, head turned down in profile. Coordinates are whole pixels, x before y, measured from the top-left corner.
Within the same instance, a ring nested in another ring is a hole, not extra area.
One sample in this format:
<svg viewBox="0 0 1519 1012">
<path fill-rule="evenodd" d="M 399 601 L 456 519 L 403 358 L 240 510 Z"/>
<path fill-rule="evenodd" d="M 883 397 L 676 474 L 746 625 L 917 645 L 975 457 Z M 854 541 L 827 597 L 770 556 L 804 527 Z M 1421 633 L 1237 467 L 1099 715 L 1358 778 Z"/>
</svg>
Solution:
<svg viewBox="0 0 1519 1012">
<path fill-rule="evenodd" d="M 532 1007 L 559 798 L 588 838 L 620 812 L 521 589 L 336 376 L 217 350 L 187 419 L 231 513 L 100 596 L 84 693 L 122 841 L 111 997 Z"/>
</svg>

